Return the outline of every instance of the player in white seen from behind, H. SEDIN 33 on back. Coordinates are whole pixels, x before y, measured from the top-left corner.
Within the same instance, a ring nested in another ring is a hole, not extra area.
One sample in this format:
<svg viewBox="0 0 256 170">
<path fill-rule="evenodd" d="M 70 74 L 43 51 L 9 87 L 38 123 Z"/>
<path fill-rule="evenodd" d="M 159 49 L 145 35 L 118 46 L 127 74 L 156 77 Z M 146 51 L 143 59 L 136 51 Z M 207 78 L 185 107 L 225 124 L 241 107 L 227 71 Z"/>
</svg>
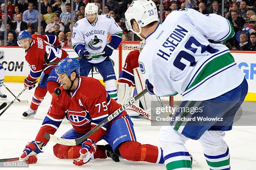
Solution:
<svg viewBox="0 0 256 170">
<path fill-rule="evenodd" d="M 230 170 L 229 149 L 223 138 L 225 131 L 232 129 L 248 84 L 229 49 L 208 42 L 233 37 L 230 22 L 219 15 L 181 9 L 159 24 L 156 5 L 151 0 L 133 1 L 125 18 L 128 30 L 146 40 L 139 65 L 148 91 L 159 96 L 178 92 L 184 100 L 180 107 L 203 107 L 200 113 L 181 111 L 174 117 L 224 117 L 223 122 L 202 121 L 190 126 L 190 122 L 171 121 L 172 126 L 163 126 L 159 138 L 166 169 L 192 169 L 184 146 L 190 138 L 202 144 L 211 170 Z"/>
</svg>

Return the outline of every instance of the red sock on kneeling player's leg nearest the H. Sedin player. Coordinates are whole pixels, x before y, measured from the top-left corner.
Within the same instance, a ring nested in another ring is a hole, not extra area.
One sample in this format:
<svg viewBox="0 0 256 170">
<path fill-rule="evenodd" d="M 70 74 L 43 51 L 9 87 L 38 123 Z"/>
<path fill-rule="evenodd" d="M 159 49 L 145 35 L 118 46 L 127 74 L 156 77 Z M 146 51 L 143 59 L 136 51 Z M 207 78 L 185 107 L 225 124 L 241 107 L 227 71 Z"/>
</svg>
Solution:
<svg viewBox="0 0 256 170">
<path fill-rule="evenodd" d="M 120 155 L 126 160 L 164 163 L 163 150 L 154 145 L 126 141 L 119 147 Z"/>
</svg>

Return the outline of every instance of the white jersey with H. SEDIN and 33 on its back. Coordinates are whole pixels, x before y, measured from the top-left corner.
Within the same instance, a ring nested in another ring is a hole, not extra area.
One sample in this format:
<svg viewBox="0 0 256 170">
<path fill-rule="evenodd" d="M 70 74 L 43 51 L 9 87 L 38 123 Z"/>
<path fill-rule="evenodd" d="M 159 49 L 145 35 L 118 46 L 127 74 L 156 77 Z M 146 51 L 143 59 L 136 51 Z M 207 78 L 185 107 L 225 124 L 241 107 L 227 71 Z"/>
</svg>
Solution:
<svg viewBox="0 0 256 170">
<path fill-rule="evenodd" d="M 146 37 L 139 56 L 141 73 L 159 96 L 182 95 L 183 100 L 208 100 L 228 92 L 244 79 L 223 41 L 234 35 L 225 18 L 193 9 L 170 13 Z"/>
</svg>

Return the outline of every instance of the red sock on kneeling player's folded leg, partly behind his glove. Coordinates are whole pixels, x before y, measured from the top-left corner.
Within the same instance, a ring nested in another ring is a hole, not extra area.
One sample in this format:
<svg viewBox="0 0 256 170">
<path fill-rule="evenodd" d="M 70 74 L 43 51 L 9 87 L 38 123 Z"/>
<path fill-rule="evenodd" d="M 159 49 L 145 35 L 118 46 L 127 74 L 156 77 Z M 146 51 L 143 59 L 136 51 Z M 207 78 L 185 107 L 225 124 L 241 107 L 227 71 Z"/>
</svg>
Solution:
<svg viewBox="0 0 256 170">
<path fill-rule="evenodd" d="M 76 146 L 66 146 L 56 144 L 53 147 L 54 155 L 60 159 L 76 159 L 79 158 L 80 153 L 79 150 L 81 149 L 81 145 Z M 94 159 L 100 158 L 105 159 L 107 158 L 106 151 L 103 145 L 97 145 L 96 152 L 93 154 Z"/>
</svg>

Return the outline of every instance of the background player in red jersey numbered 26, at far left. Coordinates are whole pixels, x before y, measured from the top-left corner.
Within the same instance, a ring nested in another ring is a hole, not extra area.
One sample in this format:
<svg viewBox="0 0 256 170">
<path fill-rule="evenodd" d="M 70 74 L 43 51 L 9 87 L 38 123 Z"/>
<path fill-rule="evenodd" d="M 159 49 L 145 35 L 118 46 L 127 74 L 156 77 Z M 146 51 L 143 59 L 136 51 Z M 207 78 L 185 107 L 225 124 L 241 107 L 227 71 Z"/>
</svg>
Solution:
<svg viewBox="0 0 256 170">
<path fill-rule="evenodd" d="M 32 97 L 30 108 L 23 113 L 22 118 L 26 119 L 34 117 L 47 91 L 53 94 L 54 89 L 59 87 L 58 76 L 54 72 L 55 65 L 47 65 L 44 55 L 53 62 L 60 61 L 62 58 L 67 57 L 68 54 L 66 51 L 59 49 L 61 44 L 56 35 L 34 34 L 31 36 L 27 30 L 24 30 L 18 34 L 17 39 L 19 45 L 26 50 L 25 58 L 31 68 L 30 74 L 24 80 L 24 85 L 28 90 L 31 90 L 36 86 L 36 79 L 41 77 Z"/>
</svg>

